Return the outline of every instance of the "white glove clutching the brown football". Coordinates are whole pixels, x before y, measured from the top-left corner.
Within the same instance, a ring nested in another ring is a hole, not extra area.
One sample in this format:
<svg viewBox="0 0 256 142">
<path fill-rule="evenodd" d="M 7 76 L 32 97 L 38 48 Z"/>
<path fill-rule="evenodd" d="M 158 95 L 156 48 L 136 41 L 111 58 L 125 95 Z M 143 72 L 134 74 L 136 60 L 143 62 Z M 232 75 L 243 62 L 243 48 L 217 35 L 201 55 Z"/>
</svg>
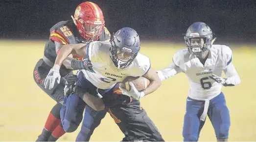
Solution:
<svg viewBox="0 0 256 142">
<path fill-rule="evenodd" d="M 145 93 L 143 91 L 139 92 L 134 84 L 132 82 L 129 82 L 129 84 L 131 85 L 131 90 L 127 91 L 126 89 L 122 88 L 121 86 L 119 86 L 119 89 L 122 91 L 123 95 L 129 96 L 129 97 L 133 97 L 136 100 L 140 100 L 140 98 L 145 96 Z"/>
</svg>

